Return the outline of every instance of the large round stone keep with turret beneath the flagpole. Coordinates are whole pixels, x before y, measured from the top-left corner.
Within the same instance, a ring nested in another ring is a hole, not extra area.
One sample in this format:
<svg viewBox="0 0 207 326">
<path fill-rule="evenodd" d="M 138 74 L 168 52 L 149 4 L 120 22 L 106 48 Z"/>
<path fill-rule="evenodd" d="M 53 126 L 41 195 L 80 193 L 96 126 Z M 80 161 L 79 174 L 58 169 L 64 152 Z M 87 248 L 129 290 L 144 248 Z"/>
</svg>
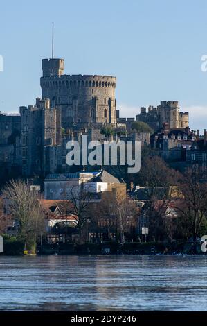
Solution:
<svg viewBox="0 0 207 326">
<path fill-rule="evenodd" d="M 42 98 L 62 110 L 62 127 L 116 123 L 116 77 L 64 75 L 63 59 L 42 60 Z"/>
</svg>

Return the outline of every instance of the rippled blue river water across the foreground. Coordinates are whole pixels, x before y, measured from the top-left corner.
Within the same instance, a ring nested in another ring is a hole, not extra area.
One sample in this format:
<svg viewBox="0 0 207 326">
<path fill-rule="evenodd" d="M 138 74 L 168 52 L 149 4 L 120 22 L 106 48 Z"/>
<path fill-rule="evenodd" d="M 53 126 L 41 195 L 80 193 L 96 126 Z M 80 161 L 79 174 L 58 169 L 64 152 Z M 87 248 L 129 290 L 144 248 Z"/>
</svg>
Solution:
<svg viewBox="0 0 207 326">
<path fill-rule="evenodd" d="M 0 310 L 206 311 L 206 257 L 0 257 Z"/>
</svg>

